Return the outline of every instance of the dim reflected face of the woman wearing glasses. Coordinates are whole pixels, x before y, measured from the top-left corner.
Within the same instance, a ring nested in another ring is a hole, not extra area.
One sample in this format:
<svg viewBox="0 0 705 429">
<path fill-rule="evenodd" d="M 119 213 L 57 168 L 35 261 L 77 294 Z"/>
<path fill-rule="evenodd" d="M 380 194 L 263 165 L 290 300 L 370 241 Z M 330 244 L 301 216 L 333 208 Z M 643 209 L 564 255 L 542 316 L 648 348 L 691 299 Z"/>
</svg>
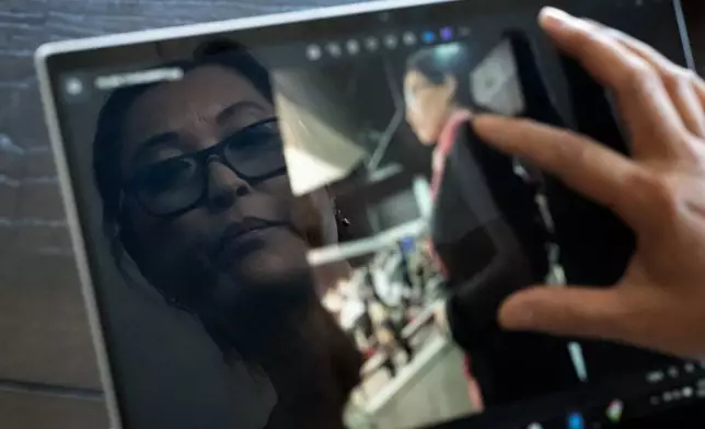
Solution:
<svg viewBox="0 0 705 429">
<path fill-rule="evenodd" d="M 243 128 L 273 117 L 271 103 L 235 71 L 221 66 L 194 69 L 180 81 L 148 90 L 130 107 L 123 127 L 123 179 L 166 160 L 234 141 Z M 275 125 L 266 129 L 276 134 Z M 259 166 L 265 172 L 282 166 L 277 164 L 282 163 L 280 154 L 257 153 L 258 140 L 238 144 L 250 146 L 250 152 L 232 150 L 229 156 L 236 166 L 252 160 L 274 160 L 270 166 Z M 145 207 L 145 196 L 139 201 L 125 200 L 123 216 L 129 231 L 124 234 L 125 245 L 140 270 L 161 289 L 182 299 L 184 293 L 195 293 L 196 299 L 206 295 L 228 302 L 242 288 L 280 283 L 291 270 L 305 267 L 311 245 L 322 245 L 335 235 L 325 192 L 294 198 L 281 170 L 257 182 L 241 177 L 217 156 L 208 156 L 203 165 L 205 189 L 198 188 L 205 193 L 190 210 L 154 216 Z M 165 174 L 173 175 L 169 170 Z M 155 176 L 164 182 L 160 174 Z M 171 175 L 165 183 L 173 179 Z M 154 190 L 145 195 L 148 206 L 150 198 L 159 202 L 163 197 Z"/>
</svg>

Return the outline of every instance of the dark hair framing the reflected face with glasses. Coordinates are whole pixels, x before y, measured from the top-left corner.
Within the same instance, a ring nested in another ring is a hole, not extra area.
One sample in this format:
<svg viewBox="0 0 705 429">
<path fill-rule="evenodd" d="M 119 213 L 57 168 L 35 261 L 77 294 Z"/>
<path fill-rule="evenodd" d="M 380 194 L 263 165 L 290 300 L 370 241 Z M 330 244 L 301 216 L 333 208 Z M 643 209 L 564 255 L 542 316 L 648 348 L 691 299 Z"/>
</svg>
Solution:
<svg viewBox="0 0 705 429">
<path fill-rule="evenodd" d="M 267 100 L 274 100 L 267 70 L 247 54 L 244 47 L 230 40 L 211 40 L 196 49 L 192 61 L 177 61 L 159 67 L 178 67 L 187 73 L 209 65 L 233 70 L 250 81 Z M 103 228 L 111 240 L 111 252 L 123 275 L 126 275 L 123 266 L 123 232 L 119 228 L 123 179 L 118 162 L 123 123 L 134 103 L 146 91 L 160 84 L 157 82 L 126 86 L 113 92 L 101 108 L 93 139 L 93 173 L 103 201 Z"/>
</svg>

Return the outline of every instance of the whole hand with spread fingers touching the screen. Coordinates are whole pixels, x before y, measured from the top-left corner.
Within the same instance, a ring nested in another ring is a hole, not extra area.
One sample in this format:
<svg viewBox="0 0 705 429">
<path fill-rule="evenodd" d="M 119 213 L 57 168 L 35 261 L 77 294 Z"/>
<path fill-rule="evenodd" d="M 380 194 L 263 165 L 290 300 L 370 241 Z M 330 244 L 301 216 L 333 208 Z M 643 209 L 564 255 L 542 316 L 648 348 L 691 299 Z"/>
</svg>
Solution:
<svg viewBox="0 0 705 429">
<path fill-rule="evenodd" d="M 633 158 L 568 130 L 490 115 L 476 132 L 609 207 L 636 233 L 609 289 L 531 288 L 499 311 L 508 329 L 705 357 L 705 83 L 623 33 L 546 8 L 541 25 L 614 94 Z"/>
</svg>

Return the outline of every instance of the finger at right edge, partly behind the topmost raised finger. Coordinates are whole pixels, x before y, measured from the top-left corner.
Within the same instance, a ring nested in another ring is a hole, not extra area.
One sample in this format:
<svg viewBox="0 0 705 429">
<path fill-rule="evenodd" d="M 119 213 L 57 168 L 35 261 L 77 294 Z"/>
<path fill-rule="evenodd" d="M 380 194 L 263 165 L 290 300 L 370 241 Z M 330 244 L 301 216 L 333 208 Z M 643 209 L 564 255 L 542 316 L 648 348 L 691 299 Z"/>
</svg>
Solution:
<svg viewBox="0 0 705 429">
<path fill-rule="evenodd" d="M 644 42 L 617 30 L 602 25 L 601 27 L 609 36 L 656 69 L 687 129 L 695 136 L 705 137 L 704 100 L 698 95 L 695 85 L 701 78 L 692 70 L 675 65 Z"/>
</svg>

